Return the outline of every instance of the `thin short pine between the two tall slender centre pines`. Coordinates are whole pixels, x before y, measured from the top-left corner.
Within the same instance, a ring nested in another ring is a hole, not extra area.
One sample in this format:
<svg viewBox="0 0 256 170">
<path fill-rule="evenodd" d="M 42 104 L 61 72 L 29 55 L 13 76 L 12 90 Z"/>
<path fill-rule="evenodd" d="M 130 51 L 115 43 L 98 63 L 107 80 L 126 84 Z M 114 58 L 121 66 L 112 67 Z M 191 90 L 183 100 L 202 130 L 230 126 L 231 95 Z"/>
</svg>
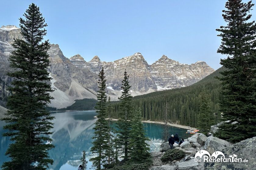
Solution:
<svg viewBox="0 0 256 170">
<path fill-rule="evenodd" d="M 108 115 L 108 134 L 107 134 L 107 139 L 108 139 L 108 148 L 106 150 L 106 155 L 108 157 L 108 164 L 111 162 L 111 157 L 114 157 L 115 152 L 114 152 L 114 135 L 113 135 L 113 127 L 112 127 L 112 106 L 111 106 L 111 99 L 108 97 L 108 102 L 107 102 L 107 115 Z"/>
</svg>

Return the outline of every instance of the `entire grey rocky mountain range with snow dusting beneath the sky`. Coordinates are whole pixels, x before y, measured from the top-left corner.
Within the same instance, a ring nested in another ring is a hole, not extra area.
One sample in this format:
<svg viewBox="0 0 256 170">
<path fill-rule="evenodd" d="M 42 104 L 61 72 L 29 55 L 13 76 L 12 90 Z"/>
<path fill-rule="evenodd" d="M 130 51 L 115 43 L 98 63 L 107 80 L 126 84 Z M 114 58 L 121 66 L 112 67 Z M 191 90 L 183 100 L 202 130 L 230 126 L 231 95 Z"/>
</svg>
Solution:
<svg viewBox="0 0 256 170">
<path fill-rule="evenodd" d="M 11 78 L 6 76 L 9 71 L 9 56 L 13 50 L 14 39 L 21 39 L 20 29 L 14 25 L 0 28 L 0 104 L 6 104 L 6 97 L 10 94 L 6 86 Z M 163 55 L 152 65 L 149 65 L 141 53 L 135 53 L 122 59 L 105 62 L 98 56 L 86 62 L 82 56 L 76 54 L 70 59 L 65 57 L 58 44 L 52 44 L 48 50 L 51 66 L 48 68 L 55 97 L 50 106 L 66 107 L 74 100 L 82 98 L 96 98 L 97 79 L 99 70 L 104 67 L 107 78 L 107 94 L 112 100 L 118 100 L 121 95 L 121 81 L 124 70 L 130 74 L 130 93 L 141 95 L 157 90 L 166 90 L 189 86 L 206 77 L 214 70 L 203 61 L 194 64 L 182 64 Z"/>
</svg>

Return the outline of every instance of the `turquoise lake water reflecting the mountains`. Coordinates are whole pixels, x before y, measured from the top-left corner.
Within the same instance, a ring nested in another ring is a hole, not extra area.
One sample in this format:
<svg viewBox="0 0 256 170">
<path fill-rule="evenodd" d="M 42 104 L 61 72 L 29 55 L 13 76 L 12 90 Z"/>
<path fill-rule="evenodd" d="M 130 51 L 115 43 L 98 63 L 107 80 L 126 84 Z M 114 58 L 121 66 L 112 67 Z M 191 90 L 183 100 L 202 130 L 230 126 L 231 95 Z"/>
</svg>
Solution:
<svg viewBox="0 0 256 170">
<path fill-rule="evenodd" d="M 87 160 L 91 158 L 90 148 L 92 146 L 93 127 L 96 121 L 95 111 L 77 111 L 77 112 L 57 112 L 53 113 L 54 128 L 52 129 L 53 144 L 55 148 L 49 151 L 49 156 L 53 158 L 54 163 L 50 165 L 53 170 L 77 170 L 80 165 L 82 151 L 87 152 Z M 4 122 L 0 121 L 0 134 L 3 130 Z M 151 151 L 159 151 L 161 144 L 161 124 L 144 123 L 147 136 L 150 138 Z M 169 127 L 170 134 L 179 134 L 179 138 L 188 138 L 186 129 Z M 0 136 L 0 166 L 9 158 L 5 156 L 5 151 L 11 143 L 8 138 Z M 91 162 L 88 162 L 87 169 L 91 168 Z"/>
</svg>

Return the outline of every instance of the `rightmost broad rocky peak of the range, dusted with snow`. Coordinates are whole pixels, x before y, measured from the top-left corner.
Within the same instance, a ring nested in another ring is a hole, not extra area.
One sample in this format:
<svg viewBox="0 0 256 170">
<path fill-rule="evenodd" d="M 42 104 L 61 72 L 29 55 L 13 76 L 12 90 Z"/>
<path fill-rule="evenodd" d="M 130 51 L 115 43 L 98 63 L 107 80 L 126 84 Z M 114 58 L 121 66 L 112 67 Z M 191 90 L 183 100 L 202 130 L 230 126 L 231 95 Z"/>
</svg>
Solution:
<svg viewBox="0 0 256 170">
<path fill-rule="evenodd" d="M 165 55 L 153 63 L 150 70 L 158 90 L 189 86 L 214 71 L 204 61 L 188 65 Z"/>
</svg>

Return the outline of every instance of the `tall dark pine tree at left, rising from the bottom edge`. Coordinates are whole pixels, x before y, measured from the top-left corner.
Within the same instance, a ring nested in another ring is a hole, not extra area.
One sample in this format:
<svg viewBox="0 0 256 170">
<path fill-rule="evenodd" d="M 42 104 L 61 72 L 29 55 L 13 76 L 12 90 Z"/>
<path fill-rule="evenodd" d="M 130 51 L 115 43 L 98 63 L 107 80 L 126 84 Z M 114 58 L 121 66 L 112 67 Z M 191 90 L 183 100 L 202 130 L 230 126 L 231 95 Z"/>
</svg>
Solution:
<svg viewBox="0 0 256 170">
<path fill-rule="evenodd" d="M 2 169 L 33 169 L 43 170 L 52 164 L 48 151 L 54 147 L 49 138 L 54 119 L 45 109 L 50 100 L 52 88 L 51 78 L 47 71 L 50 48 L 48 40 L 43 41 L 47 26 L 39 11 L 32 3 L 20 18 L 20 29 L 23 39 L 15 39 L 15 48 L 10 56 L 10 67 L 14 72 L 8 73 L 13 77 L 9 90 L 7 106 L 10 108 L 4 120 L 8 131 L 3 136 L 10 137 L 12 144 L 6 151 L 11 158 L 4 162 Z"/>
</svg>

